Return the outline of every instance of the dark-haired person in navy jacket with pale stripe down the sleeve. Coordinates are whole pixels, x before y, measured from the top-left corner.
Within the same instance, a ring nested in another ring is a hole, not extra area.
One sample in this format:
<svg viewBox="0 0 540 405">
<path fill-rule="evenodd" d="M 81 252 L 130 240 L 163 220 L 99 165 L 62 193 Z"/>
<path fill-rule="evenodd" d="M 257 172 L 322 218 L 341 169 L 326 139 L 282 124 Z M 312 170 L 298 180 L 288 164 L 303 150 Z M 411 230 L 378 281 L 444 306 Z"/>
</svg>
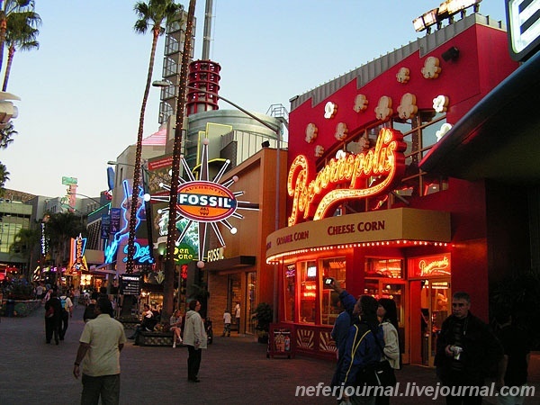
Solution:
<svg viewBox="0 0 540 405">
<path fill-rule="evenodd" d="M 374 365 L 381 361 L 383 355 L 377 343 L 377 340 L 383 341 L 383 328 L 377 320 L 378 306 L 377 300 L 371 295 L 361 295 L 353 310 L 353 325 L 348 331 L 338 379 L 339 385 L 343 384 L 346 389 L 355 387 L 355 394 L 348 398 L 352 404 L 375 403 L 372 387 Z M 346 399 L 347 396 L 345 394 L 343 396 L 343 399 Z"/>
</svg>

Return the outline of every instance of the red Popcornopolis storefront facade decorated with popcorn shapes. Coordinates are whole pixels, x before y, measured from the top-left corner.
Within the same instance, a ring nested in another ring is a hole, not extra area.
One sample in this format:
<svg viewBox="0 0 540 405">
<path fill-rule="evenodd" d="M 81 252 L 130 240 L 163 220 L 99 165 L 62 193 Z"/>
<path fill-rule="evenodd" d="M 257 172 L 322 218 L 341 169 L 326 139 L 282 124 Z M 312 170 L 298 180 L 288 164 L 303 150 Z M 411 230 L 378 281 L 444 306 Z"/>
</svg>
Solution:
<svg viewBox="0 0 540 405">
<path fill-rule="evenodd" d="M 505 236 L 527 218 L 502 186 L 419 166 L 517 67 L 502 24 L 471 14 L 292 99 L 288 226 L 267 238 L 266 262 L 298 352 L 335 358 L 331 277 L 394 299 L 403 361 L 433 365 L 452 293 L 471 293 L 487 320 L 489 285 L 529 266 L 526 238 Z"/>
</svg>

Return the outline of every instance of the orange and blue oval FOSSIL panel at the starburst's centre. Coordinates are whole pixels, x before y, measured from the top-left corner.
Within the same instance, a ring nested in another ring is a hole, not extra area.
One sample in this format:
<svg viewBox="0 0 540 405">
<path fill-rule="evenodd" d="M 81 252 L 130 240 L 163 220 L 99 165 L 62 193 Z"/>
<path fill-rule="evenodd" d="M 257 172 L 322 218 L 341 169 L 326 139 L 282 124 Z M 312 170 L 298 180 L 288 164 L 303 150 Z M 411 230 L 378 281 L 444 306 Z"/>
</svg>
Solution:
<svg viewBox="0 0 540 405">
<path fill-rule="evenodd" d="M 178 211 L 199 222 L 217 222 L 229 218 L 237 208 L 229 189 L 211 182 L 188 182 L 178 187 Z"/>
</svg>

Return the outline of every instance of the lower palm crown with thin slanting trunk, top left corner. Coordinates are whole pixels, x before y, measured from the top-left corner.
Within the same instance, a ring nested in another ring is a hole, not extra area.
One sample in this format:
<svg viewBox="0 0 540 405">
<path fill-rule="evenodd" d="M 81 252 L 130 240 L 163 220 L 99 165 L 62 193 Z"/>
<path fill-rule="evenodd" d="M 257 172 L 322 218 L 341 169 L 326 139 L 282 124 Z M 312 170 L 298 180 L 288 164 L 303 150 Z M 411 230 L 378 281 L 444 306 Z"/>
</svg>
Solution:
<svg viewBox="0 0 540 405">
<path fill-rule="evenodd" d="M 8 51 L 2 91 L 7 89 L 7 81 L 11 72 L 15 50 L 31 50 L 40 48 L 40 42 L 36 40 L 40 34 L 40 31 L 36 27 L 40 26 L 40 24 L 40 15 L 34 13 L 33 11 L 14 13 L 7 21 L 5 43 L 7 43 Z"/>
</svg>

